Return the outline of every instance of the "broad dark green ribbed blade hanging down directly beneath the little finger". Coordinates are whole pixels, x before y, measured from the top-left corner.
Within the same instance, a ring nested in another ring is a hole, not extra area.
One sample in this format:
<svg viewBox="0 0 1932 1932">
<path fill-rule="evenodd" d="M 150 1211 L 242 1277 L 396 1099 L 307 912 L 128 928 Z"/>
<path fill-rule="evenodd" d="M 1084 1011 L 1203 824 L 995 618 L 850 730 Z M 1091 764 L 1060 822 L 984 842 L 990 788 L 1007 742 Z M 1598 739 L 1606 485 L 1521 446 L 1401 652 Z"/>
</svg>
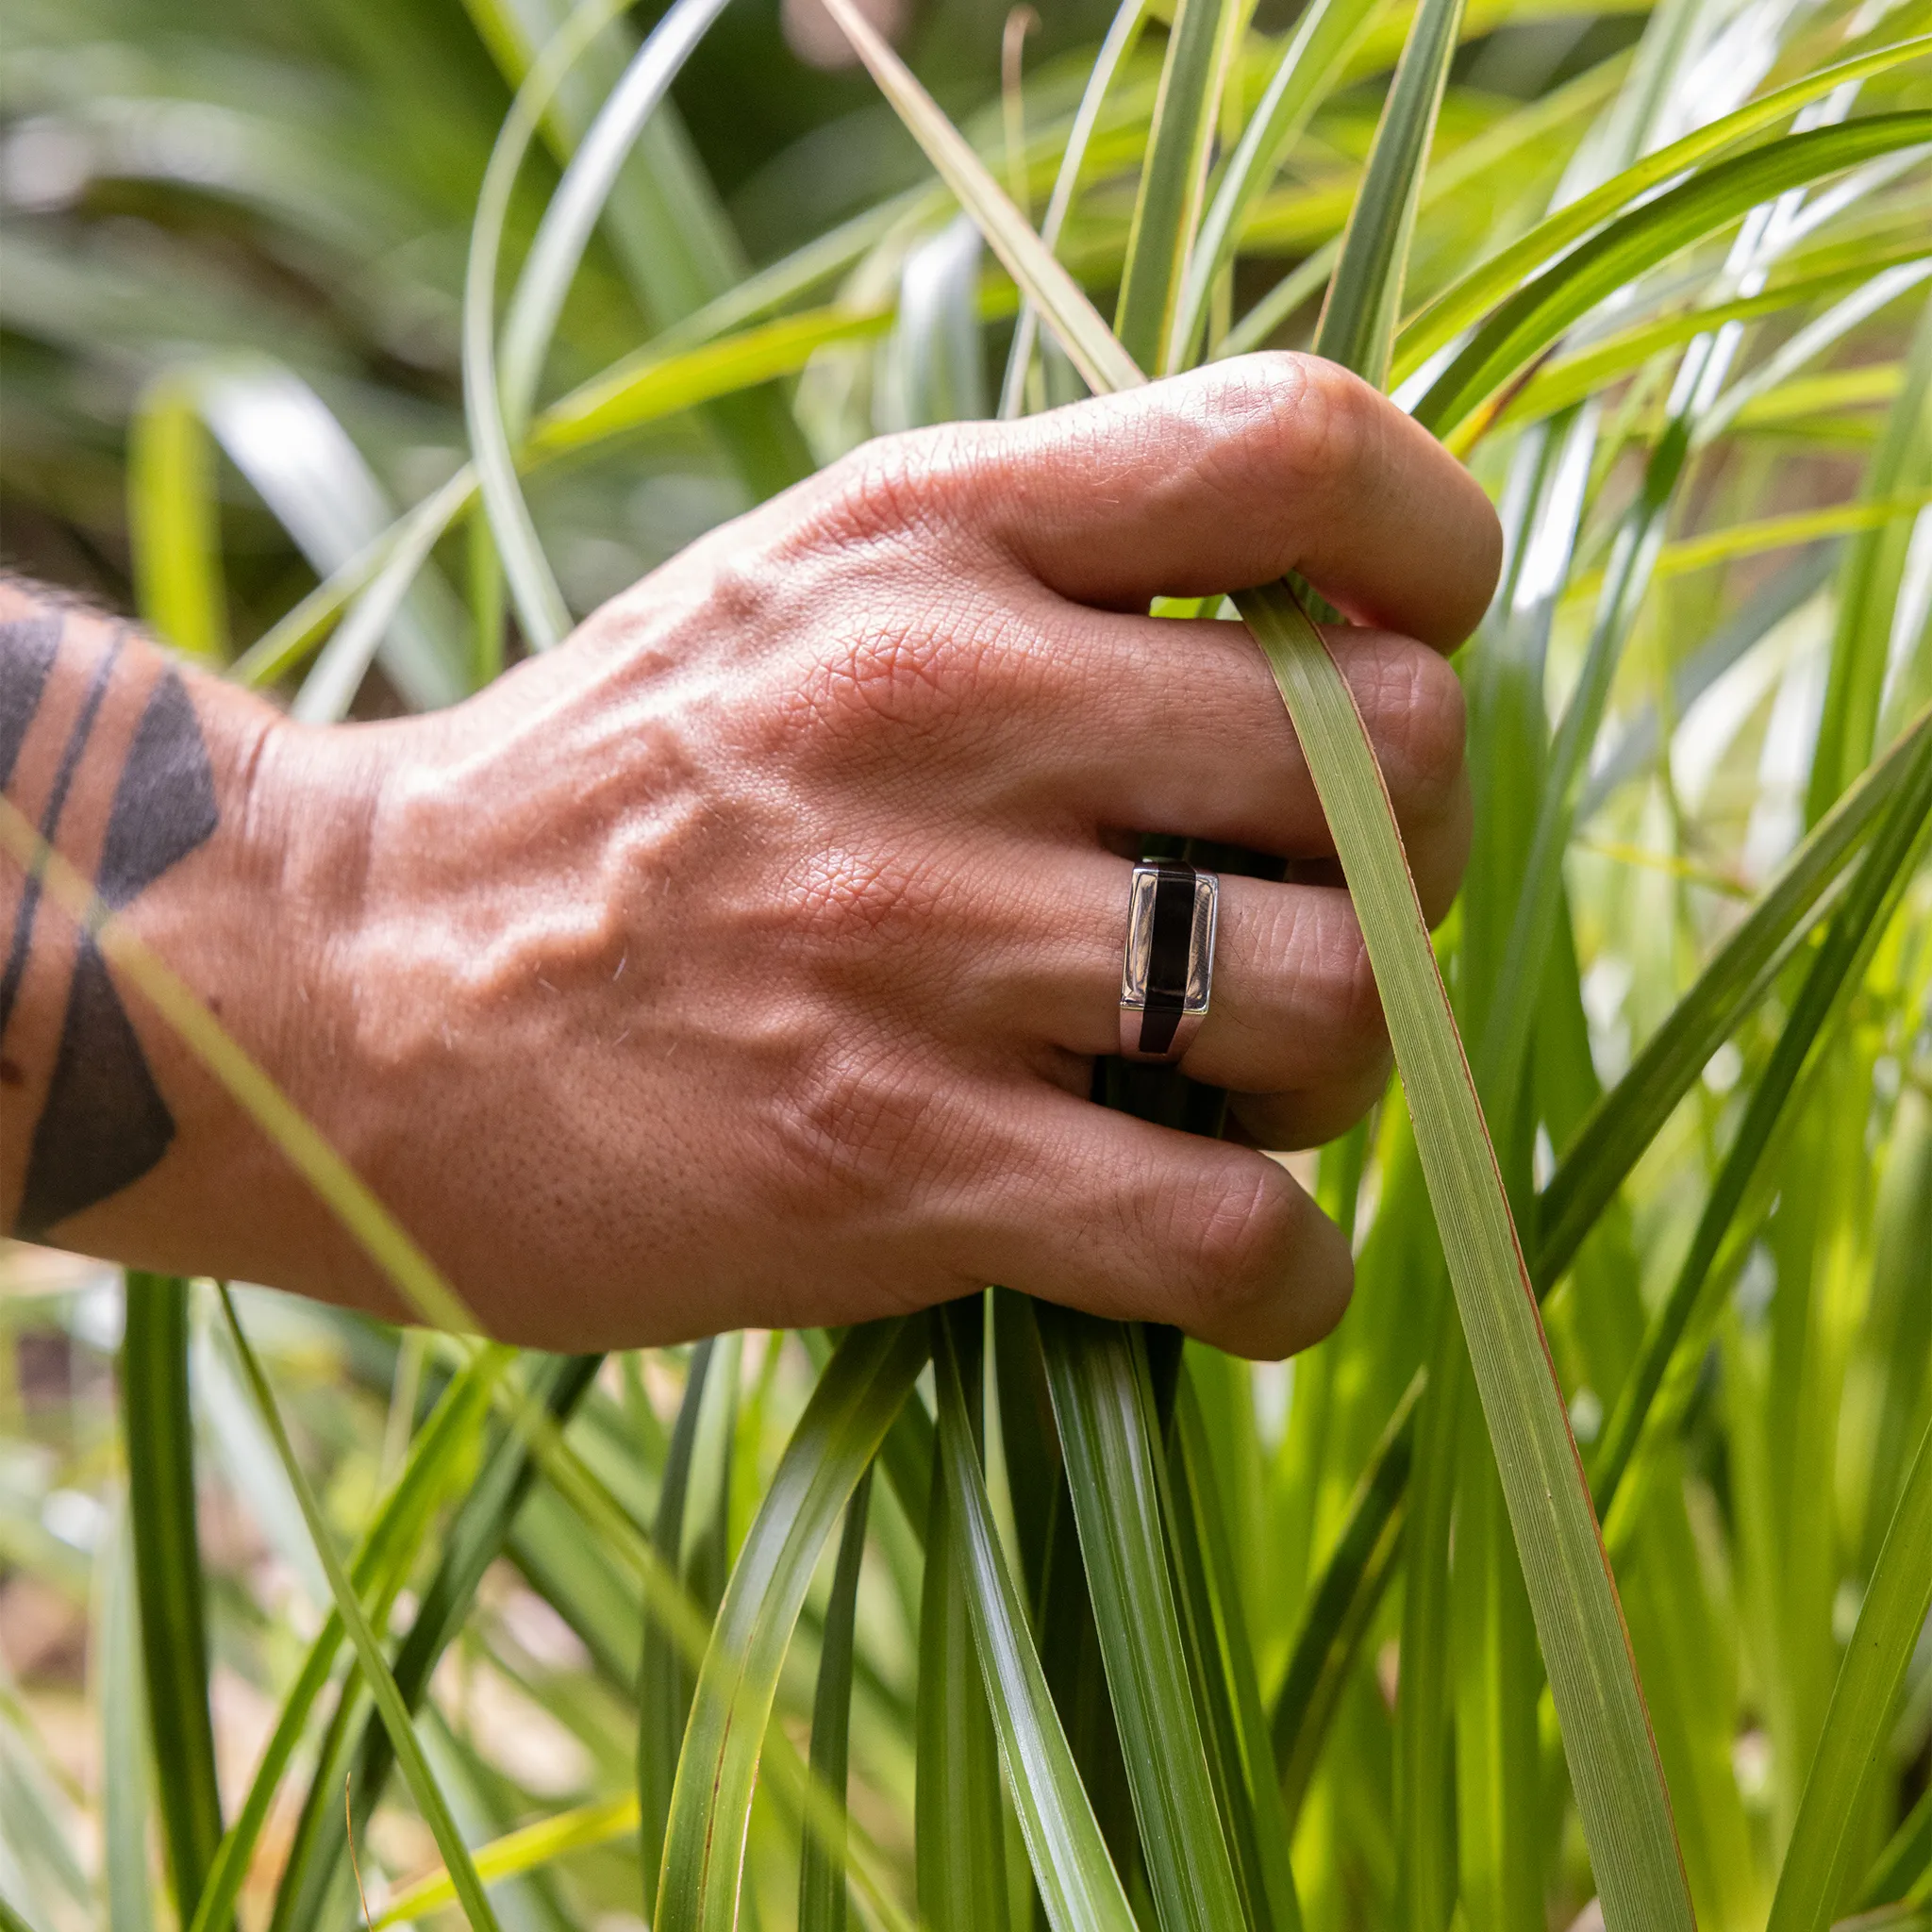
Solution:
<svg viewBox="0 0 1932 1932">
<path fill-rule="evenodd" d="M 1036 1320 L 1161 1926 L 1238 1926 L 1240 1891 L 1169 1580 L 1161 1451 L 1140 1335 L 1045 1302 Z"/>
</svg>

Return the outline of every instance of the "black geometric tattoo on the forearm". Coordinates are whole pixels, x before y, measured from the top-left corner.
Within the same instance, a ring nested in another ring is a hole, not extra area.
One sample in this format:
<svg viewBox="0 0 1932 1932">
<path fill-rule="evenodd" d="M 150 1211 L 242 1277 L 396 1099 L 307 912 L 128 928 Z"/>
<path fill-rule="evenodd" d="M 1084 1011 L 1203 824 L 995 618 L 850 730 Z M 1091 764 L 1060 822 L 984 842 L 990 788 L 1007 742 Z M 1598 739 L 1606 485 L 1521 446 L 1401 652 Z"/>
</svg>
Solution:
<svg viewBox="0 0 1932 1932">
<path fill-rule="evenodd" d="M 48 696 L 79 676 L 77 665 L 71 670 L 64 665 L 68 618 L 58 599 L 33 595 L 41 609 L 0 624 L 0 788 L 12 784 Z M 41 837 L 48 844 L 56 842 L 75 782 L 93 796 L 100 796 L 106 784 L 106 773 L 97 779 L 87 753 L 102 701 L 122 667 L 122 645 L 124 634 L 116 628 L 87 674 L 39 811 Z M 162 667 L 114 779 L 95 891 L 120 910 L 205 844 L 218 821 L 214 771 L 193 701 L 180 674 Z M 6 1045 L 6 1030 L 35 956 L 39 910 L 41 877 L 35 867 L 23 881 L 0 970 L 0 1047 Z M 4 1078 L 23 1082 L 12 1063 Z M 83 933 L 66 987 L 60 1043 L 31 1132 L 14 1233 L 25 1240 L 44 1238 L 68 1215 L 139 1180 L 172 1140 L 174 1115 L 155 1084 L 106 960 Z"/>
</svg>

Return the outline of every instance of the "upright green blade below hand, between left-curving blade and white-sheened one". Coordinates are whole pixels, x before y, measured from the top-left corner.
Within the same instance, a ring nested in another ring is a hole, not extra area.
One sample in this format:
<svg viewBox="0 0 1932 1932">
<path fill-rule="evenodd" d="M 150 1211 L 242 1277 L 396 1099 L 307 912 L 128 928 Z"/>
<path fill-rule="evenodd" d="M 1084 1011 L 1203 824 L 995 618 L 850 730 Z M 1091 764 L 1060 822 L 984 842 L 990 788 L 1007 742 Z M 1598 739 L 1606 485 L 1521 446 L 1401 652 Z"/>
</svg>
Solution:
<svg viewBox="0 0 1932 1932">
<path fill-rule="evenodd" d="M 947 1325 L 960 1379 L 978 1395 L 983 1385 L 983 1298 L 976 1294 L 935 1310 L 931 1320 Z M 978 1408 L 978 1401 L 968 1401 L 968 1422 L 976 1422 Z M 980 1434 L 976 1426 L 974 1435 Z M 1007 1828 L 999 1806 L 999 1741 L 974 1648 L 960 1530 L 937 1461 L 925 1519 L 914 1750 L 920 1918 L 929 1932 L 1005 1932 Z"/>
</svg>

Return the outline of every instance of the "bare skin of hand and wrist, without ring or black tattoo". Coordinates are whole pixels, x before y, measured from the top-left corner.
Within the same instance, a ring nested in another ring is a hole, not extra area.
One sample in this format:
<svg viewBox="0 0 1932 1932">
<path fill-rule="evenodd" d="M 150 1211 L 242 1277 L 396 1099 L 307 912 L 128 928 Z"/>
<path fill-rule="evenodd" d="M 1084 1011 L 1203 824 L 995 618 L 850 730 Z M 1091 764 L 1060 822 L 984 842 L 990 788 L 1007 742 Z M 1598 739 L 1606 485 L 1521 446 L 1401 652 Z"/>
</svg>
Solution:
<svg viewBox="0 0 1932 1932">
<path fill-rule="evenodd" d="M 1260 653 L 1144 612 L 1300 570 L 1349 614 L 1329 643 L 1439 918 L 1468 844 L 1443 653 L 1497 562 L 1466 473 L 1312 357 L 883 439 L 446 713 L 317 730 L 184 674 L 216 823 L 124 918 L 506 1339 L 846 1323 L 1001 1281 L 1283 1354 L 1339 1320 L 1350 1262 L 1260 1150 L 1360 1117 L 1389 1049 Z M 0 591 L 0 618 L 44 609 Z M 6 781 L 46 823 L 99 686 L 52 833 L 89 877 L 172 674 L 139 639 L 106 663 L 112 643 L 64 616 Z M 1318 883 L 1223 879 L 1184 1070 L 1235 1092 L 1231 1140 L 1086 1097 L 1117 1045 L 1140 833 L 1314 862 L 1296 879 Z M 0 929 L 27 891 L 0 860 Z M 15 1221 L 68 1080 L 58 908 L 25 958 L 0 1034 Z M 400 1314 L 118 991 L 172 1132 L 33 1233 Z"/>
</svg>

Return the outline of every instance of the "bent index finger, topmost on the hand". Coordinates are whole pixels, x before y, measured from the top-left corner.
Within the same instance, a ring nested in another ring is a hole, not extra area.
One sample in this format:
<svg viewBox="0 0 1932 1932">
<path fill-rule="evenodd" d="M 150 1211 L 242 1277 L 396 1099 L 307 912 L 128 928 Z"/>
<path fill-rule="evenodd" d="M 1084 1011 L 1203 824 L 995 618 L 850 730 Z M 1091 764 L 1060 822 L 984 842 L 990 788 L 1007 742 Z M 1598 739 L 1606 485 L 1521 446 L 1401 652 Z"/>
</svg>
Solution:
<svg viewBox="0 0 1932 1932">
<path fill-rule="evenodd" d="M 1244 355 L 949 452 L 964 514 L 1078 603 L 1146 607 L 1302 572 L 1360 622 L 1461 643 L 1495 512 L 1428 431 L 1312 355 Z"/>
</svg>

